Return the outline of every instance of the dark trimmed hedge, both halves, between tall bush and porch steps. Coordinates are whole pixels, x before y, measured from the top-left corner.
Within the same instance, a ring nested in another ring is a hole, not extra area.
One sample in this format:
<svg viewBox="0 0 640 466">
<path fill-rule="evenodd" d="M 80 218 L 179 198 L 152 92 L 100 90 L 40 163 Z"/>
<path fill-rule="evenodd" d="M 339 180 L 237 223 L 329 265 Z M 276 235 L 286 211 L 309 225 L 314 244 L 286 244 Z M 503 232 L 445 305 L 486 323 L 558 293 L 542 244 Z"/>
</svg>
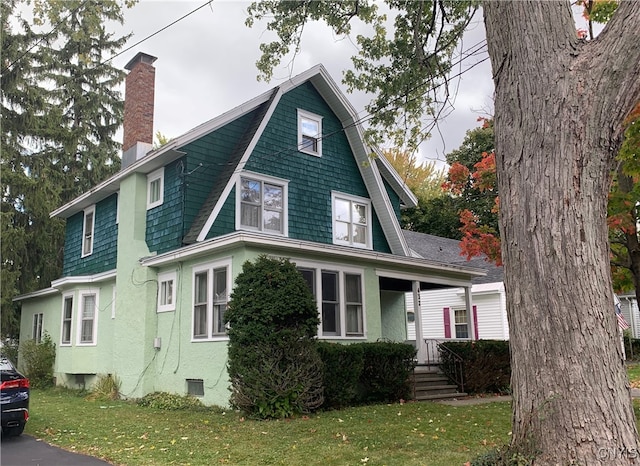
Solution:
<svg viewBox="0 0 640 466">
<path fill-rule="evenodd" d="M 323 408 L 395 402 L 411 397 L 416 349 L 406 343 L 319 342 L 324 364 Z"/>
</svg>

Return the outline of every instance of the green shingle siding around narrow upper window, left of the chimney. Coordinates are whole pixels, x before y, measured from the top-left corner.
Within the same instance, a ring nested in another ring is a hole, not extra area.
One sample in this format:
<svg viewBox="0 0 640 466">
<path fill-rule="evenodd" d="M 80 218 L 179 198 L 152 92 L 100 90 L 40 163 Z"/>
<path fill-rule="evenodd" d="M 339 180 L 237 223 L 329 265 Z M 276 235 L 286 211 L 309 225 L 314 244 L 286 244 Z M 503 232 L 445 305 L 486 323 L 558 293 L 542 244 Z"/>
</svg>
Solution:
<svg viewBox="0 0 640 466">
<path fill-rule="evenodd" d="M 82 255 L 82 224 L 84 212 L 67 219 L 64 240 L 62 276 L 93 275 L 116 268 L 118 246 L 118 195 L 113 194 L 96 204 L 93 253 Z"/>
</svg>

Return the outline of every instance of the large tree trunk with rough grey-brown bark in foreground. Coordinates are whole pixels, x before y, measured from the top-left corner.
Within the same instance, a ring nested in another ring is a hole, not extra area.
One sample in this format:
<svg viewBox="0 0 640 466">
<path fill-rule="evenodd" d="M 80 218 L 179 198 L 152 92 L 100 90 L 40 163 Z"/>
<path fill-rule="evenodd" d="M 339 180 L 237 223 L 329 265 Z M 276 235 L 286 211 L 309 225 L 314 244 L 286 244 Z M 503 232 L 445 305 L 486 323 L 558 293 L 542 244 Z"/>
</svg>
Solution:
<svg viewBox="0 0 640 466">
<path fill-rule="evenodd" d="M 569 2 L 488 1 L 513 438 L 536 464 L 629 464 L 638 435 L 613 311 L 607 193 L 640 93 L 640 2 L 596 40 Z"/>
</svg>

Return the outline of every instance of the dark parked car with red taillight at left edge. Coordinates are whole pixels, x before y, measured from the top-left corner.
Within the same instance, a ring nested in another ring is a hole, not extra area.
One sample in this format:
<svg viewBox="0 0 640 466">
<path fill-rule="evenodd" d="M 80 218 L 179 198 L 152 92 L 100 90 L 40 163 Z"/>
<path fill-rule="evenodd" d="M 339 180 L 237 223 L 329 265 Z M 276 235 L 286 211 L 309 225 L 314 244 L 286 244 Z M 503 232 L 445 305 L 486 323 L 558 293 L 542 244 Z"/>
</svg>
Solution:
<svg viewBox="0 0 640 466">
<path fill-rule="evenodd" d="M 4 356 L 0 356 L 0 372 L 2 435 L 20 435 L 29 419 L 29 380 Z"/>
</svg>

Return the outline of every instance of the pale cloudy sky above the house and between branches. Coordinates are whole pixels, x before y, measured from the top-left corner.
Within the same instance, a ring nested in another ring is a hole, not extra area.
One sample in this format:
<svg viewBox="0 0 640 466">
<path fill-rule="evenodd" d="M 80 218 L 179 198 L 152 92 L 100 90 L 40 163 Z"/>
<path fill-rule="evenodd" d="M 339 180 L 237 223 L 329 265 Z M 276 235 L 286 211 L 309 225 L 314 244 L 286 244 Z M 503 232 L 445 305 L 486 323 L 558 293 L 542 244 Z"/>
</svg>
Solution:
<svg viewBox="0 0 640 466">
<path fill-rule="evenodd" d="M 124 24 L 114 25 L 113 30 L 118 36 L 133 33 L 126 49 L 205 3 L 206 0 L 140 0 L 125 11 Z M 275 36 L 266 30 L 265 22 L 252 28 L 245 26 L 248 5 L 240 0 L 214 0 L 113 59 L 113 65 L 123 69 L 138 52 L 157 57 L 154 132 L 177 137 L 319 63 L 340 85 L 356 111 L 365 115 L 364 106 L 371 96 L 349 94 L 341 83 L 343 72 L 349 69 L 351 56 L 357 51 L 353 38 L 357 28 L 350 39 L 336 37 L 322 23 L 309 24 L 295 60 L 283 60 L 271 82 L 258 81 L 255 63 L 260 57 L 259 45 Z M 482 15 L 477 13 L 463 39 L 462 50 L 483 39 Z M 486 58 L 484 50 L 465 60 L 453 73 Z M 432 138 L 420 147 L 419 159 L 434 161 L 437 168 L 446 168 L 444 155 L 458 148 L 465 132 L 478 126 L 478 117 L 493 109 L 489 60 L 453 79 L 452 84 L 453 105 L 445 111 Z"/>
</svg>

